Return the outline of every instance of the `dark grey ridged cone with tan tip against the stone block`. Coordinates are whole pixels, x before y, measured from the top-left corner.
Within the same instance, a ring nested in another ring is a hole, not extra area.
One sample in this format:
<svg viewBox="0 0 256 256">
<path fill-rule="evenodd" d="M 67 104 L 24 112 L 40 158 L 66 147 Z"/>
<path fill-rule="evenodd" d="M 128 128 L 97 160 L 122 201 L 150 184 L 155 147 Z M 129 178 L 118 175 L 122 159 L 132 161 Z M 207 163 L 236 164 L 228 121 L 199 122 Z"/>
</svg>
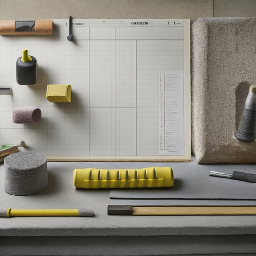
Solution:
<svg viewBox="0 0 256 256">
<path fill-rule="evenodd" d="M 255 140 L 254 129 L 256 119 L 256 85 L 251 85 L 242 113 L 242 118 L 235 133 L 236 139 L 243 142 Z"/>
</svg>

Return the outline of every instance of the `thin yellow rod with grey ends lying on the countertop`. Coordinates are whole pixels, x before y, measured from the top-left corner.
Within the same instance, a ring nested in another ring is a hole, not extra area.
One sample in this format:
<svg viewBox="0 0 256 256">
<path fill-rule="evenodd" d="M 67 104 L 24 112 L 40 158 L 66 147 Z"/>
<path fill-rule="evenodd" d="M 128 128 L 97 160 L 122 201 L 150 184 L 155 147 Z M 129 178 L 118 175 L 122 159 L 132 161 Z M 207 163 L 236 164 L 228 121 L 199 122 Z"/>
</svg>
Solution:
<svg viewBox="0 0 256 256">
<path fill-rule="evenodd" d="M 93 216 L 92 209 L 2 209 L 0 217 L 13 216 Z"/>
</svg>

